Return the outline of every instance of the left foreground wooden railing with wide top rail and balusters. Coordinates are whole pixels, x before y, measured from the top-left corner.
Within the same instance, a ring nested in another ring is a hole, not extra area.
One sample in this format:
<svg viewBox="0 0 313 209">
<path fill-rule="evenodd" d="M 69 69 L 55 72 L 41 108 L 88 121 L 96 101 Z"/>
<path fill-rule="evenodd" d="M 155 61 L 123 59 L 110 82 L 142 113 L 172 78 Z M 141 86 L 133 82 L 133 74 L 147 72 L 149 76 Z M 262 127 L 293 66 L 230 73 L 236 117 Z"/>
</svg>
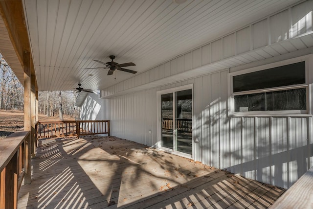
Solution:
<svg viewBox="0 0 313 209">
<path fill-rule="evenodd" d="M 30 132 L 19 131 L 0 141 L 0 209 L 16 209 L 18 192 L 30 181 Z"/>
</svg>

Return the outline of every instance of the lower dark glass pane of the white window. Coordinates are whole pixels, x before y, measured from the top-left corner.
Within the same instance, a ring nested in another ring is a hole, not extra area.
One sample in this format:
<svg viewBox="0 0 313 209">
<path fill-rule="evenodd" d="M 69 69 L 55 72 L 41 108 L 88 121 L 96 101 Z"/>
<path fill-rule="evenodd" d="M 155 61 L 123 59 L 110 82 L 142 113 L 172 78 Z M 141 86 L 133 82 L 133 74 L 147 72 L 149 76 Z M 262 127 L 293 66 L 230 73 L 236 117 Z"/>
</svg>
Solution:
<svg viewBox="0 0 313 209">
<path fill-rule="evenodd" d="M 234 99 L 235 112 L 307 109 L 306 88 L 236 95 Z"/>
</svg>

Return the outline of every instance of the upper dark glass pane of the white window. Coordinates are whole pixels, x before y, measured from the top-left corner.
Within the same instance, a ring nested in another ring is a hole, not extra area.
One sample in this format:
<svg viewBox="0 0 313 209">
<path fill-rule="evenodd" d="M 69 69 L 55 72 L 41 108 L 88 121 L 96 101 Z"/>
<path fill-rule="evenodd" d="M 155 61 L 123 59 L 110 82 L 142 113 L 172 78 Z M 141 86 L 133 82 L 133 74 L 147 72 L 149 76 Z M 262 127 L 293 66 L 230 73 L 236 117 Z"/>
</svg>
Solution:
<svg viewBox="0 0 313 209">
<path fill-rule="evenodd" d="M 305 62 L 299 62 L 233 76 L 233 92 L 305 83 Z"/>
</svg>

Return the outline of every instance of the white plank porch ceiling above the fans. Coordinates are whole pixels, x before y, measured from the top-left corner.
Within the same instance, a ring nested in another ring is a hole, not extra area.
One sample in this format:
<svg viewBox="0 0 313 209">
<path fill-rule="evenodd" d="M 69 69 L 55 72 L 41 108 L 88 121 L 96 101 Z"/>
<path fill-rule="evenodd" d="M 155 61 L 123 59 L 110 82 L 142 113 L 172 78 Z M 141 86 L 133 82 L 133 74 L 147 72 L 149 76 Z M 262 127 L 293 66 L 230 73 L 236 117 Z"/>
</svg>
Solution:
<svg viewBox="0 0 313 209">
<path fill-rule="evenodd" d="M 298 0 L 23 0 L 40 91 L 102 90 L 280 11 Z M 116 79 L 114 79 L 116 77 Z"/>
</svg>

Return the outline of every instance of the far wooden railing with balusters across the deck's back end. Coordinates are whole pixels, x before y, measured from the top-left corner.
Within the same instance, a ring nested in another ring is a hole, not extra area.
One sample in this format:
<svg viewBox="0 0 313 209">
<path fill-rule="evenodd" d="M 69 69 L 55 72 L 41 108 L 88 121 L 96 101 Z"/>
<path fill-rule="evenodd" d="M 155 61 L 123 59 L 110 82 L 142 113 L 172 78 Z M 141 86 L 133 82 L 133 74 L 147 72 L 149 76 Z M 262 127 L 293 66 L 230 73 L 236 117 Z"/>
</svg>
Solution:
<svg viewBox="0 0 313 209">
<path fill-rule="evenodd" d="M 40 138 L 108 134 L 110 120 L 64 120 L 36 122 L 36 136 Z"/>
</svg>

